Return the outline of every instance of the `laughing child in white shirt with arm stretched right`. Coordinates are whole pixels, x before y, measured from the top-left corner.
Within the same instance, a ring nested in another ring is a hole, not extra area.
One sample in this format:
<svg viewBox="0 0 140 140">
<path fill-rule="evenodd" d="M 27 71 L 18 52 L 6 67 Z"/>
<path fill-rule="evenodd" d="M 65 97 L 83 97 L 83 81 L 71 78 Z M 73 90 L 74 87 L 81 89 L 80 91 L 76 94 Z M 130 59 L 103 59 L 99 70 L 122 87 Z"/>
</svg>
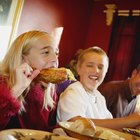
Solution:
<svg viewBox="0 0 140 140">
<path fill-rule="evenodd" d="M 140 113 L 113 119 L 107 109 L 106 100 L 98 87 L 104 80 L 108 66 L 108 56 L 100 47 L 90 47 L 80 53 L 76 66 L 79 81 L 61 93 L 57 107 L 58 122 L 88 118 L 97 126 L 112 129 L 140 126 Z"/>
</svg>

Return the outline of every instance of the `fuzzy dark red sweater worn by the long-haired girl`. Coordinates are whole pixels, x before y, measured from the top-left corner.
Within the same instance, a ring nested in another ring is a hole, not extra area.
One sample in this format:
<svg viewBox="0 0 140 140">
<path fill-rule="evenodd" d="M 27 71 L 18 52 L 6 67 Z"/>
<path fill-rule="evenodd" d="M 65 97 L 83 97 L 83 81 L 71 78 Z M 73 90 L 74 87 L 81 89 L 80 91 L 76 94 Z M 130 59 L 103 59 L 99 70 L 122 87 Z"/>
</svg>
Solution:
<svg viewBox="0 0 140 140">
<path fill-rule="evenodd" d="M 42 109 L 43 98 L 43 88 L 40 84 L 34 84 L 25 98 L 26 112 L 19 114 L 20 103 L 12 96 L 6 78 L 0 77 L 0 130 L 18 127 L 51 131 L 56 126 L 56 106 L 53 110 Z M 53 99 L 57 105 L 56 93 Z M 13 118 L 16 121 L 11 123 Z"/>
</svg>

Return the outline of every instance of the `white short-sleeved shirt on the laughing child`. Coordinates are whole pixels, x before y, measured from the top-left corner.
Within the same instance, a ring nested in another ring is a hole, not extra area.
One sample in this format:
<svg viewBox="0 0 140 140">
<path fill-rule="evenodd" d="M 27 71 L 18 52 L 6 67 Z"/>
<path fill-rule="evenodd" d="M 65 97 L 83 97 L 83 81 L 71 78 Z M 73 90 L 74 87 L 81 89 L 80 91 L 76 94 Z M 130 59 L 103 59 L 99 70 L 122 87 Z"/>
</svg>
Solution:
<svg viewBox="0 0 140 140">
<path fill-rule="evenodd" d="M 76 116 L 96 119 L 113 118 L 106 107 L 104 96 L 98 90 L 93 93 L 86 92 L 80 82 L 71 84 L 61 93 L 57 109 L 58 122 Z"/>
</svg>

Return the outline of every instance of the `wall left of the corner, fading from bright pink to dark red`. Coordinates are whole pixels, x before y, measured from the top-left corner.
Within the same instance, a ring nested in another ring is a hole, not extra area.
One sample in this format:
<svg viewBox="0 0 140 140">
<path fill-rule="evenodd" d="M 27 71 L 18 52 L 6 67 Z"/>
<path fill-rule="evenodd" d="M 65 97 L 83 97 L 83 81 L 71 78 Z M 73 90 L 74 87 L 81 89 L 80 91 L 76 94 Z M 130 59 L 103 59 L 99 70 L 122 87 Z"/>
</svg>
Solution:
<svg viewBox="0 0 140 140">
<path fill-rule="evenodd" d="M 25 0 L 18 34 L 63 26 L 59 48 L 60 66 L 64 66 L 85 45 L 92 5 L 93 0 Z"/>
</svg>

